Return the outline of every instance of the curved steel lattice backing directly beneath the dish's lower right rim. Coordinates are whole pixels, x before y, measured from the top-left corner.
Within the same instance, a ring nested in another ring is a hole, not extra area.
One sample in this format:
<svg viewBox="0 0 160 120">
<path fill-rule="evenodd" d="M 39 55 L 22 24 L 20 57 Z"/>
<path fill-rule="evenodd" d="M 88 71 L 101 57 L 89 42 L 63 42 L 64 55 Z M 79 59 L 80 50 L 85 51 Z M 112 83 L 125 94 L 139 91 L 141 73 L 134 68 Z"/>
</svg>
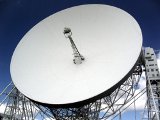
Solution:
<svg viewBox="0 0 160 120">
<path fill-rule="evenodd" d="M 142 74 L 142 61 L 132 75 L 112 94 L 78 108 L 47 107 L 56 120 L 106 120 L 134 98 L 136 86 Z M 37 105 L 42 111 L 44 106 Z"/>
</svg>

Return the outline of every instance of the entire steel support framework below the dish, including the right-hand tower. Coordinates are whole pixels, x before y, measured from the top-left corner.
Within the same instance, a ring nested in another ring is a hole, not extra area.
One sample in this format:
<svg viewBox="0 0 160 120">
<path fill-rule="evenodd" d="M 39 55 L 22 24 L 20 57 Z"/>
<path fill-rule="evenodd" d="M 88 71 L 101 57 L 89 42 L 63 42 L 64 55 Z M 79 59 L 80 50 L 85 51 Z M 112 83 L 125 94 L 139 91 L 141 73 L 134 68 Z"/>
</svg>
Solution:
<svg viewBox="0 0 160 120">
<path fill-rule="evenodd" d="M 142 72 L 146 74 L 146 89 L 135 93 Z M 134 71 L 110 95 L 92 103 L 71 108 L 54 108 L 30 101 L 11 82 L 1 93 L 6 95 L 0 103 L 6 105 L 0 120 L 107 120 L 119 115 L 127 106 L 147 92 L 147 102 L 141 119 L 159 120 L 160 76 L 157 59 L 152 48 L 145 48 Z"/>
</svg>

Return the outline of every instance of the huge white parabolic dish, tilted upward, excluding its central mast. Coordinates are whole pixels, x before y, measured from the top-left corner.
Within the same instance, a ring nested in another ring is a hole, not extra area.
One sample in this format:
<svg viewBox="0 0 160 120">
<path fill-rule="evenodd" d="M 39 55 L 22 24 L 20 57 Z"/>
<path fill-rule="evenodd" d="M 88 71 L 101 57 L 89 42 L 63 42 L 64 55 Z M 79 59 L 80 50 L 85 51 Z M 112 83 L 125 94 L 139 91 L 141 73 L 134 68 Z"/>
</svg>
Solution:
<svg viewBox="0 0 160 120">
<path fill-rule="evenodd" d="M 73 63 L 72 38 L 85 57 Z M 80 5 L 35 25 L 17 45 L 11 77 L 29 99 L 46 105 L 92 102 L 131 75 L 142 48 L 141 29 L 127 12 L 108 5 Z"/>
</svg>

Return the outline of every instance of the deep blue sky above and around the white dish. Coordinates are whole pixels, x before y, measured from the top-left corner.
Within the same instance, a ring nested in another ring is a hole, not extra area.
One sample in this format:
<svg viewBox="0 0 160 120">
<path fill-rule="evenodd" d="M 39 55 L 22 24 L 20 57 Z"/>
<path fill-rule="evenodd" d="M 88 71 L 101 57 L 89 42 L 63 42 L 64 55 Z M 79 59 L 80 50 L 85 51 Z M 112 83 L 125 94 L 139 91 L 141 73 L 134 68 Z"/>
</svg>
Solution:
<svg viewBox="0 0 160 120">
<path fill-rule="evenodd" d="M 0 91 L 11 80 L 11 56 L 28 30 L 55 12 L 76 5 L 95 3 L 127 11 L 142 29 L 143 46 L 160 49 L 159 0 L 0 0 Z"/>
</svg>

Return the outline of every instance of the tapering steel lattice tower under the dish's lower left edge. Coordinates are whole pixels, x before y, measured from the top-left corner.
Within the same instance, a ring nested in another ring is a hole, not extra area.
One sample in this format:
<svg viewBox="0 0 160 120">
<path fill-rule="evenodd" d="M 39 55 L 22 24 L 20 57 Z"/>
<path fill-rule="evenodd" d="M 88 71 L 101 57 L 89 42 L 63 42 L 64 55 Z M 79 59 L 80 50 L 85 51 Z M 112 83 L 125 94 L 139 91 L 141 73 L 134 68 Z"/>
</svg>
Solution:
<svg viewBox="0 0 160 120">
<path fill-rule="evenodd" d="M 14 88 L 8 96 L 4 120 L 34 120 L 38 112 L 32 102 Z"/>
</svg>

